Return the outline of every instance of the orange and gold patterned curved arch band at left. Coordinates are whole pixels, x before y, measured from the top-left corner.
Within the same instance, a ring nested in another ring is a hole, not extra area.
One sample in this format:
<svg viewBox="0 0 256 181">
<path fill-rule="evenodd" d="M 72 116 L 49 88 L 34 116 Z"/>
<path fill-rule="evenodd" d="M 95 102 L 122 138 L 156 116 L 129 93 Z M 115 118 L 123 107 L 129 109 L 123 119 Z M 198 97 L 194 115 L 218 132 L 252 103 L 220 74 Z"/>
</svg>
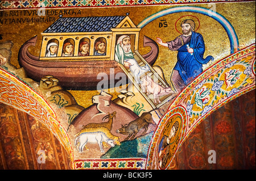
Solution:
<svg viewBox="0 0 256 181">
<path fill-rule="evenodd" d="M 0 102 L 24 111 L 41 121 L 57 137 L 73 161 L 72 147 L 63 126 L 48 103 L 14 75 L 0 68 Z"/>
</svg>

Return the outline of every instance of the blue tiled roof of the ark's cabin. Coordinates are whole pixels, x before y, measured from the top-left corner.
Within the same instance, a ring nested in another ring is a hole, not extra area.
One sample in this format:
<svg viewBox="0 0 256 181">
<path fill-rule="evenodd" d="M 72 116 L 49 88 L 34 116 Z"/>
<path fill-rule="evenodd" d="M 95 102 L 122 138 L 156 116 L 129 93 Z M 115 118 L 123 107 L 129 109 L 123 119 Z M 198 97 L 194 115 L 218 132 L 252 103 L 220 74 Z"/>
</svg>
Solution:
<svg viewBox="0 0 256 181">
<path fill-rule="evenodd" d="M 126 16 L 94 16 L 82 18 L 59 18 L 44 33 L 54 32 L 102 32 L 111 31 Z"/>
</svg>

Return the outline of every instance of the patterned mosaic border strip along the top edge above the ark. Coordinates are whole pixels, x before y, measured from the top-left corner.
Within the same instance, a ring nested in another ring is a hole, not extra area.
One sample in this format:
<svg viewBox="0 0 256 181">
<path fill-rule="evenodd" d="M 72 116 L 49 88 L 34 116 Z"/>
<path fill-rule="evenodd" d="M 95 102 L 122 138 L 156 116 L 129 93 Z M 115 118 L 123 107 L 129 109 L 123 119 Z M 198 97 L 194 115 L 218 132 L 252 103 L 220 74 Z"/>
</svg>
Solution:
<svg viewBox="0 0 256 181">
<path fill-rule="evenodd" d="M 22 0 L 1 1 L 0 9 L 35 9 L 72 8 L 72 7 L 112 7 L 112 6 L 144 6 L 144 5 L 174 5 L 190 3 L 218 3 L 218 2 L 249 2 L 251 0 Z"/>
</svg>

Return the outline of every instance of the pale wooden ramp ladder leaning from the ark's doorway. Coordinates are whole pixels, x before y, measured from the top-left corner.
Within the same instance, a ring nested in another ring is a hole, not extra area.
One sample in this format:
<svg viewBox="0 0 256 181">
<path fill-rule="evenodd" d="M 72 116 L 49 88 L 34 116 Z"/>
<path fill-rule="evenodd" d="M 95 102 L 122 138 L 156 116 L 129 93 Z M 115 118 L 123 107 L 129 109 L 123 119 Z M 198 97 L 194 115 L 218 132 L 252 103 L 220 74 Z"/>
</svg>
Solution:
<svg viewBox="0 0 256 181">
<path fill-rule="evenodd" d="M 141 79 L 147 75 L 148 77 L 151 77 L 155 83 L 158 83 L 158 85 L 165 87 L 165 88 L 169 87 L 169 85 L 162 79 L 162 77 L 159 76 L 159 74 L 152 68 L 152 66 L 150 64 L 148 64 L 148 62 L 146 60 L 144 60 L 144 58 L 141 56 L 141 54 L 139 54 L 138 50 L 135 50 L 133 55 L 134 55 L 134 59 L 138 62 L 139 66 L 147 65 L 150 68 L 150 72 L 143 74 L 141 76 Z M 131 82 L 133 82 L 133 85 L 135 86 L 135 88 L 142 94 L 142 96 L 147 100 L 147 102 L 150 104 L 150 106 L 153 109 L 159 108 L 164 103 L 166 103 L 168 100 L 170 100 L 170 98 L 172 97 L 172 94 L 160 96 L 159 99 L 160 99 L 161 103 L 155 103 L 154 96 L 152 94 L 147 95 L 146 92 L 142 91 L 141 85 L 135 81 L 131 70 L 126 69 L 125 66 L 123 66 L 122 64 L 119 64 L 119 66 L 121 66 L 122 70 L 125 72 L 127 77 L 130 79 Z"/>
</svg>

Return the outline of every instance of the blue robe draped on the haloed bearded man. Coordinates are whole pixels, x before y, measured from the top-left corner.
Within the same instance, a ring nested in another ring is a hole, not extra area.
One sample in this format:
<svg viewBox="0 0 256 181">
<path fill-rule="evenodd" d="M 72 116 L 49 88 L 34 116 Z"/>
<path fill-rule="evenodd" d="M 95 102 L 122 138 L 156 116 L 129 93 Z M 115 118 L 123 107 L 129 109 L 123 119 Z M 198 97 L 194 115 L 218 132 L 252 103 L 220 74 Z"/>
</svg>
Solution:
<svg viewBox="0 0 256 181">
<path fill-rule="evenodd" d="M 193 55 L 188 53 L 187 44 L 193 48 Z M 177 63 L 174 67 L 175 70 L 179 71 L 185 85 L 188 85 L 192 79 L 203 72 L 203 64 L 213 60 L 212 56 L 204 58 L 204 39 L 200 33 L 192 32 L 191 40 L 187 44 L 177 49 Z"/>
</svg>

